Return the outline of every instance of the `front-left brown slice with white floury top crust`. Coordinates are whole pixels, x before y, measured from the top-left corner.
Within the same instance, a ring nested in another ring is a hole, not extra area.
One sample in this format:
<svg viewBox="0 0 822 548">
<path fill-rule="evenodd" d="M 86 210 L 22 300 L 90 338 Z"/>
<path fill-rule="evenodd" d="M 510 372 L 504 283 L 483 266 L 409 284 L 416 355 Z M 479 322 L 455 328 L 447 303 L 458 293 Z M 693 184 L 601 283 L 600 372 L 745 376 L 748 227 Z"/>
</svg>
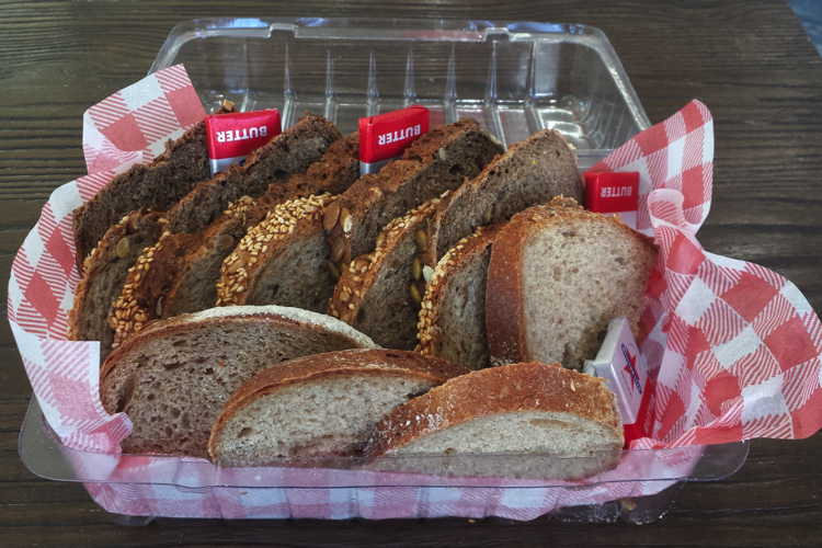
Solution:
<svg viewBox="0 0 822 548">
<path fill-rule="evenodd" d="M 102 366 L 100 395 L 107 412 L 132 420 L 125 453 L 205 457 L 224 403 L 263 367 L 356 347 L 374 343 L 329 316 L 213 308 L 155 322 L 122 344 Z"/>
</svg>

